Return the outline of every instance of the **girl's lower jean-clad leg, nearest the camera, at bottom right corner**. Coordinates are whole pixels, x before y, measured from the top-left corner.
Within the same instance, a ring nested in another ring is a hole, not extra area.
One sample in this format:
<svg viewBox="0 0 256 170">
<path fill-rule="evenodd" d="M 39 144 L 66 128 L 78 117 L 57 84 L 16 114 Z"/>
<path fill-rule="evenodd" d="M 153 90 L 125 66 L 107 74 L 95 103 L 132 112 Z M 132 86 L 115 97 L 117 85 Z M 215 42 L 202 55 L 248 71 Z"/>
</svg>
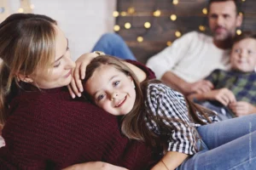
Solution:
<svg viewBox="0 0 256 170">
<path fill-rule="evenodd" d="M 256 132 L 189 157 L 178 170 L 255 170 Z"/>
</svg>

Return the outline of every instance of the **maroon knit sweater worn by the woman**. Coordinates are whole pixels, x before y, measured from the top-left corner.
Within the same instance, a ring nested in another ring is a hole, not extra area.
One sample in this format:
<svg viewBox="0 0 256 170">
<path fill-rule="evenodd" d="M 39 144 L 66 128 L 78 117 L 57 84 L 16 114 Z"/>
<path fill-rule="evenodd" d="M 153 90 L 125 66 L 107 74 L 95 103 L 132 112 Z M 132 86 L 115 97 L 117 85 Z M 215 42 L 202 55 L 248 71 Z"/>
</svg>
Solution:
<svg viewBox="0 0 256 170">
<path fill-rule="evenodd" d="M 154 77 L 143 65 L 137 66 Z M 6 146 L 0 149 L 0 169 L 61 169 L 106 161 L 132 170 L 154 163 L 145 144 L 120 133 L 116 116 L 71 99 L 66 88 L 38 91 L 26 85 L 12 100 L 9 114 L 3 127 Z"/>
</svg>

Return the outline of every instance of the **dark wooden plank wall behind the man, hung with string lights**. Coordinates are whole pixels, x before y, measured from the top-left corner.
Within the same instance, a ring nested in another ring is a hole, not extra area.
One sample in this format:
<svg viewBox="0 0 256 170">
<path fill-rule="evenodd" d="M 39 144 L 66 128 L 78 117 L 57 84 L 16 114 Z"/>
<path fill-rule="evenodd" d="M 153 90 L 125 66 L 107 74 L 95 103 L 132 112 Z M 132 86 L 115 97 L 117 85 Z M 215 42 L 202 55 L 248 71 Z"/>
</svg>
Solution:
<svg viewBox="0 0 256 170">
<path fill-rule="evenodd" d="M 117 33 L 125 39 L 137 59 L 145 63 L 149 57 L 166 48 L 166 42 L 177 39 L 175 31 L 183 35 L 189 31 L 200 31 L 199 26 L 206 26 L 204 32 L 208 34 L 207 15 L 202 13 L 207 3 L 207 0 L 179 0 L 174 5 L 172 0 L 118 0 L 116 24 L 120 30 Z M 135 12 L 129 14 L 128 8 L 134 8 Z M 160 17 L 153 16 L 157 9 L 161 11 Z M 121 16 L 122 11 L 126 16 Z M 241 0 L 241 12 L 244 16 L 241 30 L 256 33 L 256 0 Z M 177 20 L 170 20 L 171 14 L 176 14 Z M 149 29 L 143 26 L 146 21 L 151 23 Z M 126 22 L 131 23 L 130 29 L 125 29 Z M 137 42 L 139 36 L 143 37 L 143 42 Z"/>
</svg>

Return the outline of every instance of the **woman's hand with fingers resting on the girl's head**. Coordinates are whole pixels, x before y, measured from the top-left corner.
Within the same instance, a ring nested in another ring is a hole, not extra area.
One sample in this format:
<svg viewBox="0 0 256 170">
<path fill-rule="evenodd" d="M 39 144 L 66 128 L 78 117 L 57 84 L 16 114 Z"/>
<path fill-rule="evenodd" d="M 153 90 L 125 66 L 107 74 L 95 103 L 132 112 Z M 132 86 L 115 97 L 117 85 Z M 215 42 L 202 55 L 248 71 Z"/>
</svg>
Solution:
<svg viewBox="0 0 256 170">
<path fill-rule="evenodd" d="M 90 61 L 99 56 L 99 54 L 88 53 L 83 54 L 76 60 L 76 67 L 73 71 L 73 78 L 70 84 L 67 86 L 69 94 L 74 99 L 76 96 L 81 97 L 81 93 L 84 91 L 82 81 L 85 77 L 86 66 L 90 64 Z"/>
</svg>

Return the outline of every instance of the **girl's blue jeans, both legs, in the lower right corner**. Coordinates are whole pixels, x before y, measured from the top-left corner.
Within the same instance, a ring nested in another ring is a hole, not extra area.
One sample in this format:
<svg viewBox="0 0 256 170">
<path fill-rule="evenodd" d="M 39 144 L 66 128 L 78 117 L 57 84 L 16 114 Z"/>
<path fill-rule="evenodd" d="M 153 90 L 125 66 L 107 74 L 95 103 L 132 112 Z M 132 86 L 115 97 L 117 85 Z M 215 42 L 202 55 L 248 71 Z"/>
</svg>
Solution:
<svg viewBox="0 0 256 170">
<path fill-rule="evenodd" d="M 256 114 L 197 127 L 203 150 L 177 170 L 256 169 Z"/>
</svg>

